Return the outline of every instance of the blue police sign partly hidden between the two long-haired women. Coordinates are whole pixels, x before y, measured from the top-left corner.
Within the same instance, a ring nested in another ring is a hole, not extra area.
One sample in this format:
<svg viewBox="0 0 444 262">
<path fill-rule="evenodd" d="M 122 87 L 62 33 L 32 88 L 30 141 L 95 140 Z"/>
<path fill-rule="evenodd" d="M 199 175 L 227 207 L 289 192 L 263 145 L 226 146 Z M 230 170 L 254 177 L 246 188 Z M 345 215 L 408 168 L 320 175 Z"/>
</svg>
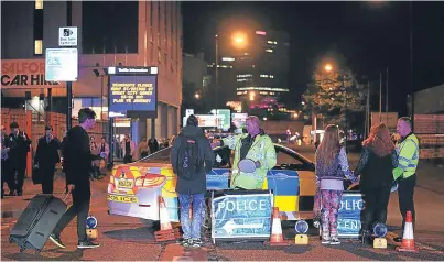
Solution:
<svg viewBox="0 0 444 262">
<path fill-rule="evenodd" d="M 337 230 L 340 238 L 359 237 L 362 208 L 364 200 L 360 193 L 344 193 L 337 220 Z"/>
</svg>

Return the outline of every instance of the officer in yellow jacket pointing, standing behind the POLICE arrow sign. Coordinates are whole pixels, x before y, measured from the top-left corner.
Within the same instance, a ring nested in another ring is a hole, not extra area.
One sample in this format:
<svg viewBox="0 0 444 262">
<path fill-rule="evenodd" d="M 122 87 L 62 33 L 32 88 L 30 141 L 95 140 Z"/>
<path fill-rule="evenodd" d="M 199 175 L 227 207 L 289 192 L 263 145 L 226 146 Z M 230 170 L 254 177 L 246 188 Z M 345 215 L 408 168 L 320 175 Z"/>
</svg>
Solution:
<svg viewBox="0 0 444 262">
<path fill-rule="evenodd" d="M 230 135 L 213 143 L 213 146 L 227 145 L 235 150 L 232 161 L 231 188 L 240 189 L 262 189 L 267 172 L 277 164 L 274 144 L 270 137 L 260 129 L 258 117 L 250 116 L 246 120 L 247 133 Z M 256 163 L 255 173 L 243 173 L 239 171 L 239 162 L 251 160 Z"/>
</svg>

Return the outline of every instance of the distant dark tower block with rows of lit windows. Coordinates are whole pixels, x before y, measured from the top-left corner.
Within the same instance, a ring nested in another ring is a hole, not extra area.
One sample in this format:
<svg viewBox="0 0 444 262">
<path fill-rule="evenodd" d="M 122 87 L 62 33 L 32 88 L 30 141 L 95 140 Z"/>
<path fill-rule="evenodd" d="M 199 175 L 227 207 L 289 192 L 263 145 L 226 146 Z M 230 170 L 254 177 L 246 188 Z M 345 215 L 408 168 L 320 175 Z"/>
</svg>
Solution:
<svg viewBox="0 0 444 262">
<path fill-rule="evenodd" d="M 263 98 L 279 100 L 289 92 L 290 37 L 285 32 L 243 32 L 241 47 L 234 43 L 232 32 L 220 37 L 225 40 L 219 47 L 219 86 L 235 95 L 231 99 L 258 103 Z"/>
</svg>

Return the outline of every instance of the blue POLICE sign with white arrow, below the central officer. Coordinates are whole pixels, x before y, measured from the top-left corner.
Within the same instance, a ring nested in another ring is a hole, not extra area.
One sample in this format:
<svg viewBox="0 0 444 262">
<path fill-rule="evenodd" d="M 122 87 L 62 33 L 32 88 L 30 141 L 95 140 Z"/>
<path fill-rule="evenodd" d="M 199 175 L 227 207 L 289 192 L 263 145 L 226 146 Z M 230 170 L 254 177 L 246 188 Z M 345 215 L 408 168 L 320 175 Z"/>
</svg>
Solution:
<svg viewBox="0 0 444 262">
<path fill-rule="evenodd" d="M 212 238 L 270 238 L 272 194 L 225 195 L 212 199 Z"/>
</svg>

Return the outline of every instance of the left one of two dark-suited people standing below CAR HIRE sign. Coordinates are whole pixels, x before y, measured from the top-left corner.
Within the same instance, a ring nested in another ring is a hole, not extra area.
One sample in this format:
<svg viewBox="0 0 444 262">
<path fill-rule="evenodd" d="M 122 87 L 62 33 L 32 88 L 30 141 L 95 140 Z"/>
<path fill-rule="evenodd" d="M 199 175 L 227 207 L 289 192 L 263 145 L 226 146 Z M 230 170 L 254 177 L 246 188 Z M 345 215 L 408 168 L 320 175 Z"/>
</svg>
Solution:
<svg viewBox="0 0 444 262">
<path fill-rule="evenodd" d="M 10 139 L 9 159 L 11 164 L 11 185 L 13 189 L 10 195 L 21 196 L 23 194 L 24 172 L 26 170 L 28 152 L 30 152 L 31 140 L 25 132 L 20 132 L 19 124 L 12 122 Z M 17 184 L 15 184 L 17 176 Z"/>
</svg>

